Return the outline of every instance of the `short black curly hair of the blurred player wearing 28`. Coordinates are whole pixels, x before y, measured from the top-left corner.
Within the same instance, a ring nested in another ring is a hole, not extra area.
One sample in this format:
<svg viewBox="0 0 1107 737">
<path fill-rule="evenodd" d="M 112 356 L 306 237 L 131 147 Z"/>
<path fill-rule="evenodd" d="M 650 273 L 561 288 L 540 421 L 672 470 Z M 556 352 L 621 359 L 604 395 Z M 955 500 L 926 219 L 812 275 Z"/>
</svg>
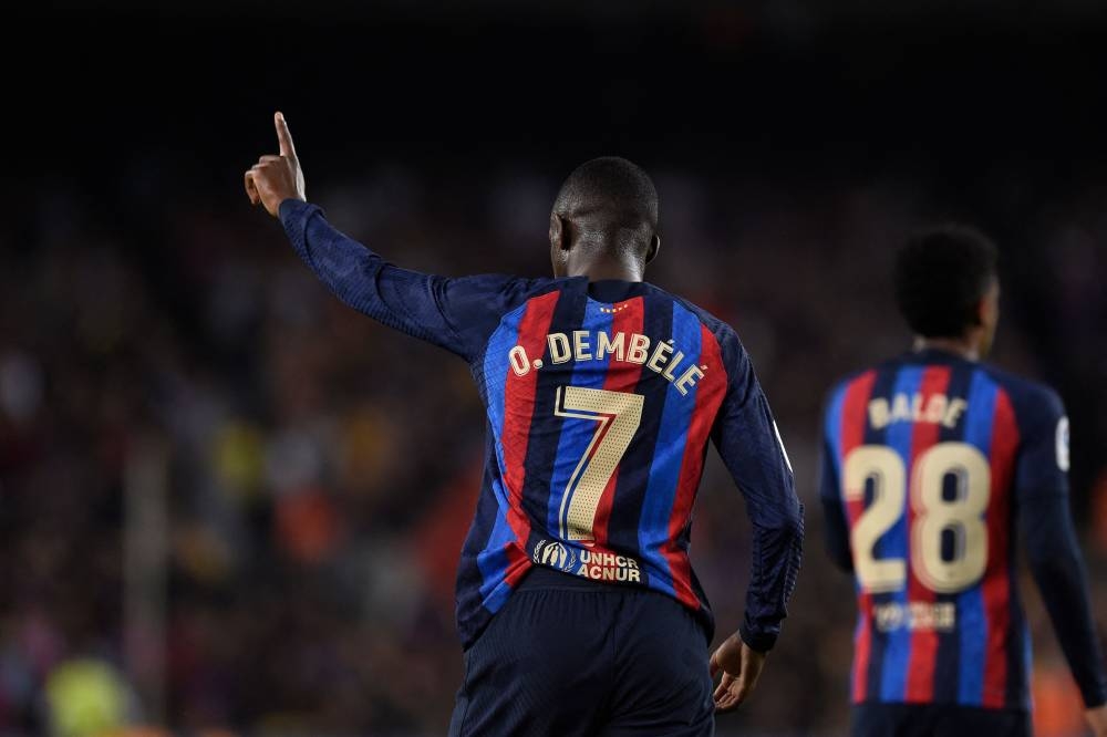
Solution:
<svg viewBox="0 0 1107 737">
<path fill-rule="evenodd" d="M 980 323 L 995 280 L 995 245 L 975 228 L 945 225 L 911 237 L 896 257 L 896 303 L 923 338 L 960 338 Z"/>
</svg>

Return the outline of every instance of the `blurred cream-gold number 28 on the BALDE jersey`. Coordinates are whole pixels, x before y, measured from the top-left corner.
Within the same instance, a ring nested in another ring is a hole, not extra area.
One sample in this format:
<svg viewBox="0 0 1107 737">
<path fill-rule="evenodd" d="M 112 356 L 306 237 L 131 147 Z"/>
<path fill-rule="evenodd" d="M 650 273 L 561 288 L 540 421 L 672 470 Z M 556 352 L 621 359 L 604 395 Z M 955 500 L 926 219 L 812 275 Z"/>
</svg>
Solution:
<svg viewBox="0 0 1107 737">
<path fill-rule="evenodd" d="M 955 495 L 944 496 L 945 479 L 953 477 Z M 865 498 L 865 484 L 873 482 L 872 502 L 850 532 L 853 568 L 861 587 L 871 592 L 898 591 L 907 584 L 902 558 L 878 560 L 873 548 L 903 515 L 907 470 L 903 459 L 882 445 L 862 445 L 846 457 L 842 486 L 847 501 Z M 953 593 L 976 583 L 987 567 L 987 527 L 984 512 L 991 497 L 992 471 L 987 459 L 966 443 L 939 443 L 914 463 L 911 475 L 911 569 L 931 591 Z M 942 536 L 954 536 L 951 560 L 942 557 Z"/>
</svg>

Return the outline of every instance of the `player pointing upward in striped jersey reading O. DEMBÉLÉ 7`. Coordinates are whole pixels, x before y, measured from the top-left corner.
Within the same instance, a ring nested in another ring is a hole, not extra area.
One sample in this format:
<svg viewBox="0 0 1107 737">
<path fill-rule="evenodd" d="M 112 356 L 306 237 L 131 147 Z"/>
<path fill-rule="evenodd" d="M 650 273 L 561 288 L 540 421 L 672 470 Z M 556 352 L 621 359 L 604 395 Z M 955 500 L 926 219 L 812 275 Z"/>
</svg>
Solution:
<svg viewBox="0 0 1107 737">
<path fill-rule="evenodd" d="M 577 168 L 550 215 L 552 278 L 434 277 L 332 228 L 276 124 L 280 155 L 246 173 L 251 201 L 343 302 L 463 357 L 487 407 L 451 734 L 711 735 L 776 642 L 803 511 L 737 335 L 642 281 L 661 242 L 653 183 L 622 158 Z M 745 619 L 710 663 L 687 552 L 708 438 L 745 496 L 754 556 Z"/>
</svg>

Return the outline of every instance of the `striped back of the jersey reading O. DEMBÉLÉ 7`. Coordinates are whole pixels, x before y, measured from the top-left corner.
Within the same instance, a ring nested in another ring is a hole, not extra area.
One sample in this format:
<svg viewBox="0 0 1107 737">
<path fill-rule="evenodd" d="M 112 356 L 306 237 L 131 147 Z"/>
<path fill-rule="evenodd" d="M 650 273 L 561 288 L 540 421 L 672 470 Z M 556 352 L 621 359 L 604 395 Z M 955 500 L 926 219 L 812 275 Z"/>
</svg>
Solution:
<svg viewBox="0 0 1107 737">
<path fill-rule="evenodd" d="M 504 314 L 474 374 L 490 439 L 458 574 L 463 629 L 536 564 L 648 587 L 710 625 L 687 557 L 704 453 L 736 380 L 736 396 L 764 403 L 733 330 L 648 283 L 546 280 Z M 751 449 L 777 461 L 767 405 L 755 418 Z"/>
</svg>

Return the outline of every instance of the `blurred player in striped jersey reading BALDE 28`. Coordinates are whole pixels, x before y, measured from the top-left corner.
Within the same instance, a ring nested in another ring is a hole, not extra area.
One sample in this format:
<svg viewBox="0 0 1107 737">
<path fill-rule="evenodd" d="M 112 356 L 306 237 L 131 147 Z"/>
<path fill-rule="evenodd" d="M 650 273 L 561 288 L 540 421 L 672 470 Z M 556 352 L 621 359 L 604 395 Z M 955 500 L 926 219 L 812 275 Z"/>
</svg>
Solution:
<svg viewBox="0 0 1107 737">
<path fill-rule="evenodd" d="M 855 735 L 1031 733 L 1016 525 L 1099 737 L 1107 679 L 1068 511 L 1068 421 L 1046 386 L 980 363 L 999 320 L 996 250 L 964 227 L 898 253 L 914 350 L 831 392 L 820 496 L 852 571 Z"/>
</svg>

